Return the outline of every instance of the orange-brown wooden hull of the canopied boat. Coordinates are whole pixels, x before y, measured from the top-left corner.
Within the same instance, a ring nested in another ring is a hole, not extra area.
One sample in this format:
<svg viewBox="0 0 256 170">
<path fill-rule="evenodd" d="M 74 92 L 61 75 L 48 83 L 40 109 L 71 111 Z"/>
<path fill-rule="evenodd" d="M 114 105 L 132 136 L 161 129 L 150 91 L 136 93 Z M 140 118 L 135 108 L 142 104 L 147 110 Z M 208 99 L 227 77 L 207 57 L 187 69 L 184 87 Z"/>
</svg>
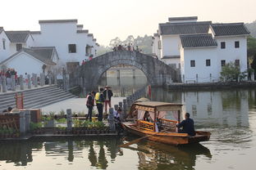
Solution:
<svg viewBox="0 0 256 170">
<path fill-rule="evenodd" d="M 211 136 L 210 132 L 196 132 L 195 136 L 189 136 L 187 133 L 152 132 L 136 128 L 135 124 L 132 123 L 122 123 L 122 126 L 127 132 L 138 136 L 149 136 L 148 139 L 150 141 L 157 141 L 167 145 L 185 145 L 198 143 L 200 141 L 208 141 Z"/>
</svg>

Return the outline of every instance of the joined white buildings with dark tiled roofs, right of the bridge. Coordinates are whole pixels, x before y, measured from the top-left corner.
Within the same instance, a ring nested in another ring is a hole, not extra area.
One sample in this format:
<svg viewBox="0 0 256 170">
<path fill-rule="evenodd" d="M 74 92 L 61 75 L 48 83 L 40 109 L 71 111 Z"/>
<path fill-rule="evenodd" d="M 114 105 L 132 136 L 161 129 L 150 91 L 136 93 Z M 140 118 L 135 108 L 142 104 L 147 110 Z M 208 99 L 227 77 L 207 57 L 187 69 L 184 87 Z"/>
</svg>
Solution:
<svg viewBox="0 0 256 170">
<path fill-rule="evenodd" d="M 183 83 L 218 81 L 222 66 L 235 62 L 247 69 L 249 31 L 243 23 L 212 24 L 196 16 L 172 17 L 159 24 L 153 52 L 168 65 L 181 69 Z"/>
</svg>

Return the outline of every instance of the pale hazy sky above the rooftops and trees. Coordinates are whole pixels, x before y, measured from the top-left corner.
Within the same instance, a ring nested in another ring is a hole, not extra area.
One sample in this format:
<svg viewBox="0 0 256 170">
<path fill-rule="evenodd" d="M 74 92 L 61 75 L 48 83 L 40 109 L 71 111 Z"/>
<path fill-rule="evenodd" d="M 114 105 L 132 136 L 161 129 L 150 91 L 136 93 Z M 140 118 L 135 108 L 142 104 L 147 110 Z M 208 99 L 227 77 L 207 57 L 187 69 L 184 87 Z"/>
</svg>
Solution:
<svg viewBox="0 0 256 170">
<path fill-rule="evenodd" d="M 256 20 L 256 0 L 1 0 L 5 30 L 39 30 L 39 20 L 77 19 L 100 45 L 111 39 L 153 35 L 168 17 L 198 16 L 213 22 Z"/>
</svg>

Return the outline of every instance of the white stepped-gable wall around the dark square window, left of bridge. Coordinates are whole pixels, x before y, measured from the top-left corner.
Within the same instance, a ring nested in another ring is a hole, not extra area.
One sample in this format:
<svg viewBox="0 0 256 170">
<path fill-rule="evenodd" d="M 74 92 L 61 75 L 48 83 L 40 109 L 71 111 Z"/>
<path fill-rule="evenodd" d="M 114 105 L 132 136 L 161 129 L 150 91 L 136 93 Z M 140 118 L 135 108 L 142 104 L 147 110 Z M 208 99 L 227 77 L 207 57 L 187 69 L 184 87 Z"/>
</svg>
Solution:
<svg viewBox="0 0 256 170">
<path fill-rule="evenodd" d="M 35 46 L 38 47 L 56 47 L 60 61 L 63 64 L 66 62 L 77 62 L 88 59 L 85 56 L 85 47 L 94 46 L 92 37 L 88 37 L 86 33 L 76 33 L 77 27 L 75 22 L 66 23 L 43 23 L 40 24 L 41 34 L 33 34 Z M 68 51 L 68 44 L 76 45 L 76 52 Z M 94 49 L 92 54 L 95 56 Z"/>
</svg>

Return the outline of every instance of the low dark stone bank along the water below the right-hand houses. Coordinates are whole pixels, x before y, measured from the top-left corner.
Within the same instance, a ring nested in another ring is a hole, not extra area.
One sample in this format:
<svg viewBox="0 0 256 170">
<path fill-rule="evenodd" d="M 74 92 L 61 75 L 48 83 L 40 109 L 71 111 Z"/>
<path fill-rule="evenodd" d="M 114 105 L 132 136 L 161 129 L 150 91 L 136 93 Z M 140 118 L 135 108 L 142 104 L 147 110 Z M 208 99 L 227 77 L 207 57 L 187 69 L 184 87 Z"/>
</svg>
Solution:
<svg viewBox="0 0 256 170">
<path fill-rule="evenodd" d="M 224 90 L 230 88 L 253 88 L 256 82 L 217 82 L 217 83 L 173 83 L 165 88 L 169 91 L 205 91 L 205 90 Z"/>
</svg>

